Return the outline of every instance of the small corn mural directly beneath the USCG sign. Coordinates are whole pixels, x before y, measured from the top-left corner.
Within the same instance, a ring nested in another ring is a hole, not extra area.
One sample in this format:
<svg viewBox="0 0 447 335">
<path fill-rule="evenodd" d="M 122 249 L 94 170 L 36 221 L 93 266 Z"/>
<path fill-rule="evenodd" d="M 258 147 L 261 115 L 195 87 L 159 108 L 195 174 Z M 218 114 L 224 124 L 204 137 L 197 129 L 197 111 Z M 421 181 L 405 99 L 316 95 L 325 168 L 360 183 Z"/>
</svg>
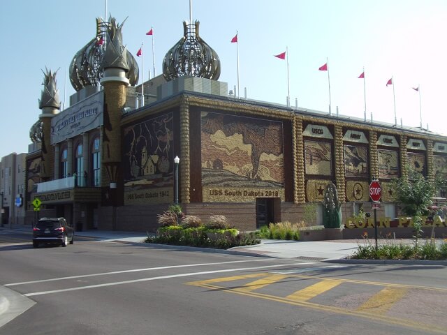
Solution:
<svg viewBox="0 0 447 335">
<path fill-rule="evenodd" d="M 332 147 L 328 142 L 305 141 L 306 174 L 332 176 Z"/>
</svg>

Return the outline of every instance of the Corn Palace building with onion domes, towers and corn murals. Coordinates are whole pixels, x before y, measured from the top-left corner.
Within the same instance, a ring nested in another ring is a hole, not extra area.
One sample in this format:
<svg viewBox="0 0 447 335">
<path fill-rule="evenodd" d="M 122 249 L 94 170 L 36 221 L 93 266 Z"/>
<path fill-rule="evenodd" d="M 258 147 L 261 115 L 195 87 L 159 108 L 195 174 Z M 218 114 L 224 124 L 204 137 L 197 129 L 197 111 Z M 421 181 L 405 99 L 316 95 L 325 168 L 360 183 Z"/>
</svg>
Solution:
<svg viewBox="0 0 447 335">
<path fill-rule="evenodd" d="M 361 207 L 371 210 L 373 177 L 382 187 L 378 216 L 395 218 L 390 181 L 406 163 L 430 178 L 447 175 L 444 136 L 228 94 L 199 22 L 184 22 L 163 75 L 138 87 L 122 25 L 96 24 L 71 62 L 71 107 L 60 111 L 56 73 L 45 72 L 27 154 L 28 223 L 65 216 L 78 230 L 154 231 L 157 214 L 178 201 L 185 214 L 221 214 L 240 230 L 300 222 L 316 203 L 321 225 L 333 183 L 346 225 Z"/>
</svg>

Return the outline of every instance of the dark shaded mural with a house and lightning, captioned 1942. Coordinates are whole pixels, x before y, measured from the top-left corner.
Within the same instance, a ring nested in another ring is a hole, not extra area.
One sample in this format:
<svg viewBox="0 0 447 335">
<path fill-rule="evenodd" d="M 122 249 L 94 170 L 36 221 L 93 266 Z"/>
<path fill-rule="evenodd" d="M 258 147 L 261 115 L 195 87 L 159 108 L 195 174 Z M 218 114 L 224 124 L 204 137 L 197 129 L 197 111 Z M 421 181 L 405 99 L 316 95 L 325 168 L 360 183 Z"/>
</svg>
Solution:
<svg viewBox="0 0 447 335">
<path fill-rule="evenodd" d="M 124 204 L 173 201 L 173 113 L 124 128 Z"/>
</svg>

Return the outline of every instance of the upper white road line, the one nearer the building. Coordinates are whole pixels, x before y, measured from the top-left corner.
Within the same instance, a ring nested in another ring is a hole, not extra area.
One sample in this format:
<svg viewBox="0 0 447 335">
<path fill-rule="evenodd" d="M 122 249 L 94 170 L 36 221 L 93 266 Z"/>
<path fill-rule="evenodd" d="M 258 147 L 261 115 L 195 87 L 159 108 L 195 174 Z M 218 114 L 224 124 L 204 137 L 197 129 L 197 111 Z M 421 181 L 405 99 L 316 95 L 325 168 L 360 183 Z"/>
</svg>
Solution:
<svg viewBox="0 0 447 335">
<path fill-rule="evenodd" d="M 203 266 L 206 266 L 206 265 L 223 265 L 223 264 L 242 263 L 242 262 L 265 262 L 265 261 L 273 261 L 273 260 L 275 260 L 275 259 L 274 258 L 261 258 L 261 259 L 257 259 L 257 260 L 233 260 L 233 261 L 229 261 L 229 262 L 217 262 L 217 263 L 199 263 L 199 264 L 188 264 L 188 265 L 172 265 L 170 267 L 148 267 L 146 269 L 132 269 L 132 270 L 103 272 L 103 273 L 99 273 L 99 274 L 82 274 L 82 275 L 79 275 L 79 276 L 69 276 L 69 277 L 42 279 L 40 281 L 22 281 L 21 283 L 9 283 L 9 284 L 4 284 L 3 286 L 16 286 L 16 285 L 25 285 L 25 284 L 34 284 L 34 283 L 45 283 L 47 281 L 64 281 L 66 279 L 86 278 L 86 277 L 94 277 L 94 276 L 108 276 L 110 274 L 126 274 L 126 273 L 130 273 L 130 272 L 140 272 L 140 271 L 175 269 L 175 268 L 179 268 L 179 267 L 203 267 Z"/>
</svg>

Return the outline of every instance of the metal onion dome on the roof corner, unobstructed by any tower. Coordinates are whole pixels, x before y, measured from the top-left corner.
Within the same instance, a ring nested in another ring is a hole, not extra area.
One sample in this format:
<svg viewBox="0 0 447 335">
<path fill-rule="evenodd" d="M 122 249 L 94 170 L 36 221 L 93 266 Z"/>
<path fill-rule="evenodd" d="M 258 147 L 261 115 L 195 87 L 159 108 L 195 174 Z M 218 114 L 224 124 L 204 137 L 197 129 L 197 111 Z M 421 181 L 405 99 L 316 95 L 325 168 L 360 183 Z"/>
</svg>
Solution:
<svg viewBox="0 0 447 335">
<path fill-rule="evenodd" d="M 163 59 L 163 76 L 170 81 L 182 75 L 218 80 L 221 61 L 217 53 L 200 38 L 198 25 L 183 22 L 184 35 L 166 53 Z"/>
</svg>

